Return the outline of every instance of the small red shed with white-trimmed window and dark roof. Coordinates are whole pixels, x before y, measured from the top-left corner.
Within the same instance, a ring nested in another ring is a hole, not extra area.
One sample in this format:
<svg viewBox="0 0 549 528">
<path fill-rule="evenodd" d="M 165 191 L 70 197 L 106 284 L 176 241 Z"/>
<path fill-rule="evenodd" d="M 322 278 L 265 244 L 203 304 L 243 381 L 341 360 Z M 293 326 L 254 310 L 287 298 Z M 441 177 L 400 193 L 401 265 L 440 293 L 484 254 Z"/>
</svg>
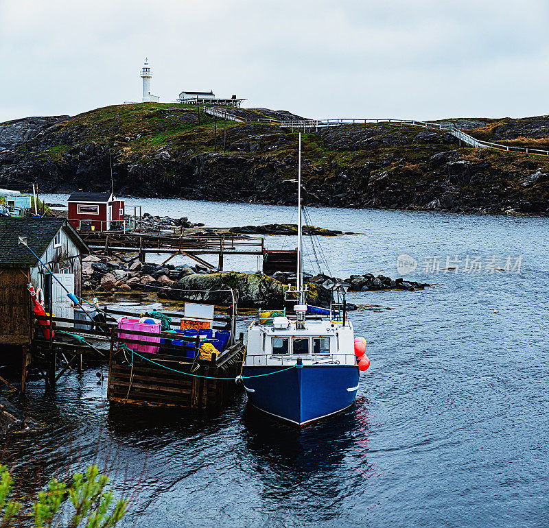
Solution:
<svg viewBox="0 0 549 528">
<path fill-rule="evenodd" d="M 110 192 L 72 193 L 69 222 L 77 230 L 108 231 L 124 223 L 124 200 L 117 200 Z"/>
</svg>

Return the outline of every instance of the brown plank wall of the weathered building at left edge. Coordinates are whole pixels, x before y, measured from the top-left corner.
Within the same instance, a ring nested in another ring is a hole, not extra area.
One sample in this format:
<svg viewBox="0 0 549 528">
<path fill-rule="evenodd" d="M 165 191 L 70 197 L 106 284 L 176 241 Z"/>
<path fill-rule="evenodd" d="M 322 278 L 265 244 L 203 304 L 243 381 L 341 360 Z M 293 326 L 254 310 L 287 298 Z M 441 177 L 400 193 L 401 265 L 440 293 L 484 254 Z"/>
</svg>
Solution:
<svg viewBox="0 0 549 528">
<path fill-rule="evenodd" d="M 30 343 L 27 269 L 0 269 L 0 344 Z"/>
</svg>

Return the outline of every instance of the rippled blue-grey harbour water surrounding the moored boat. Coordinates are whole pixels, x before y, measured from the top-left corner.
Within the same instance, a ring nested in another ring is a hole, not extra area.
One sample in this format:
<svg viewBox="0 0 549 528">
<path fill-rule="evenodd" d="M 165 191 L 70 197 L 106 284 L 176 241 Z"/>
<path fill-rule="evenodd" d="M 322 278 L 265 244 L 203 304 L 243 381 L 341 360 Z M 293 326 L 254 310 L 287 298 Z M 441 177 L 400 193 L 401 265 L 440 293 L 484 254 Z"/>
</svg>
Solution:
<svg viewBox="0 0 549 528">
<path fill-rule="evenodd" d="M 277 206 L 127 203 L 211 226 L 295 221 L 293 208 Z M 71 451 L 75 465 L 88 463 L 101 442 L 117 454 L 119 493 L 131 488 L 124 470 L 139 475 L 146 461 L 124 526 L 548 525 L 549 219 L 310 213 L 317 226 L 362 233 L 321 239 L 333 274 L 400 276 L 397 255 L 406 253 L 419 263 L 407 277 L 435 284 L 349 296 L 361 305 L 353 323 L 371 359 L 353 409 L 299 432 L 245 411 L 244 396 L 213 418 L 110 408 L 99 368 L 65 376 L 49 396 L 33 381 L 25 405 L 48 427 L 10 442 L 6 457 L 28 477 L 21 492 L 43 485 Z M 295 239 L 268 238 L 282 244 Z M 456 255 L 458 272 L 423 273 L 429 257 L 442 268 Z M 509 257 L 515 270 L 486 273 L 493 256 L 502 257 L 495 267 Z M 463 269 L 474 257 L 480 273 Z"/>
</svg>

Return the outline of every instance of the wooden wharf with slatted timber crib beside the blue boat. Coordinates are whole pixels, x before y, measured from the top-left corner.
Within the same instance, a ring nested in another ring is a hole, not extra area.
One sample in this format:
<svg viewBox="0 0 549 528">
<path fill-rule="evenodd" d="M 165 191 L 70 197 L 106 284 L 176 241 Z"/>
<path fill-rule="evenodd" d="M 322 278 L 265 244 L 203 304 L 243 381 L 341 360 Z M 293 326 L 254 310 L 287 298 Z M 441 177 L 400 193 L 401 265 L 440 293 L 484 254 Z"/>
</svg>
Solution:
<svg viewBox="0 0 549 528">
<path fill-rule="evenodd" d="M 108 362 L 108 399 L 113 403 L 149 406 L 220 409 L 237 389 L 235 378 L 244 361 L 244 335 L 235 336 L 235 315 L 215 313 L 212 330 L 231 332 L 219 356 L 200 359 L 198 337 L 163 332 L 145 333 L 119 329 L 114 315 L 137 317 L 140 313 L 104 309 L 106 322 L 35 315 L 32 344 L 23 359 L 22 391 L 31 368 L 53 388 L 67 371 L 82 372 L 83 360 Z M 162 312 L 179 328 L 184 314 Z M 79 328 L 74 328 L 78 324 Z M 43 331 L 53 329 L 49 337 Z M 136 352 L 144 338 L 160 339 L 158 352 Z M 187 350 L 194 357 L 187 357 Z"/>
</svg>

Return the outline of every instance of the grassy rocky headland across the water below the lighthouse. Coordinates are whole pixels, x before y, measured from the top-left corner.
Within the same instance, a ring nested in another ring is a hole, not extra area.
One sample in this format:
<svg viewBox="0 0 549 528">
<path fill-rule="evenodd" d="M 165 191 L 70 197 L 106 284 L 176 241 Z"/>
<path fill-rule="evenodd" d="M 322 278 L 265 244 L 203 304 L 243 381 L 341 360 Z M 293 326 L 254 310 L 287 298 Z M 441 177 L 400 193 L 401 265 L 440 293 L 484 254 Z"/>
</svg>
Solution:
<svg viewBox="0 0 549 528">
<path fill-rule="evenodd" d="M 487 141 L 549 144 L 545 116 L 456 125 Z M 119 194 L 296 204 L 291 130 L 231 122 L 225 152 L 218 147 L 209 117 L 199 122 L 191 107 L 111 106 L 0 123 L 0 176 L 38 182 L 43 192 L 104 190 L 112 162 Z M 307 134 L 303 182 L 310 206 L 549 214 L 548 158 L 475 150 L 444 131 L 417 127 L 344 125 Z"/>
</svg>

